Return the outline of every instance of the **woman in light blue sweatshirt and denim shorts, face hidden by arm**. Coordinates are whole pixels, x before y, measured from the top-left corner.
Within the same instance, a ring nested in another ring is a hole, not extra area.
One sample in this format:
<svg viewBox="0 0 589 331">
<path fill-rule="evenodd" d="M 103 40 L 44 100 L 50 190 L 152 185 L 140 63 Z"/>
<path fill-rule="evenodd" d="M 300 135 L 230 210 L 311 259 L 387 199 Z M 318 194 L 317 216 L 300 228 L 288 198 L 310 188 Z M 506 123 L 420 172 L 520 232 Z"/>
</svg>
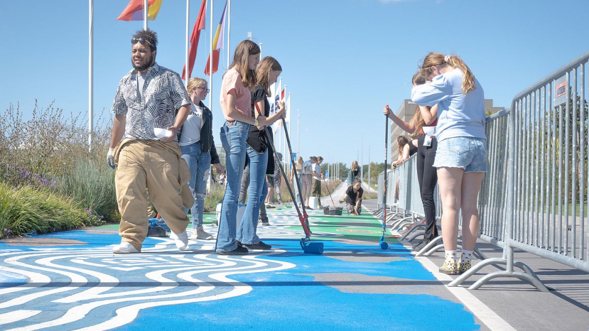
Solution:
<svg viewBox="0 0 589 331">
<path fill-rule="evenodd" d="M 485 96 L 481 84 L 461 58 L 430 53 L 422 73 L 430 82 L 413 87 L 411 99 L 422 106 L 438 104 L 436 140 L 439 193 L 442 198 L 442 273 L 458 274 L 471 267 L 479 231 L 477 198 L 487 172 Z M 462 254 L 456 254 L 458 213 L 462 211 Z"/>
</svg>

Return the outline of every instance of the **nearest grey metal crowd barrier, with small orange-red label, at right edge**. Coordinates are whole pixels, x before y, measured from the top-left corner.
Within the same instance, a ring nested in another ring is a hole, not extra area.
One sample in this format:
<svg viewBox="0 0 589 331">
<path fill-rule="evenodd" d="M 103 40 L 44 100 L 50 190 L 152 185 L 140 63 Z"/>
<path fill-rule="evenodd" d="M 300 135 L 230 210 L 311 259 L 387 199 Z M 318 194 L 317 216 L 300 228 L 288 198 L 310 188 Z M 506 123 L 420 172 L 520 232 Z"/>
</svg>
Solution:
<svg viewBox="0 0 589 331">
<path fill-rule="evenodd" d="M 528 280 L 514 272 L 514 249 L 589 272 L 589 200 L 585 67 L 589 52 L 522 91 L 509 115 L 505 250 L 507 270 L 487 274 Z M 473 269 L 475 269 L 473 267 Z M 480 269 L 480 268 L 478 268 Z M 469 270 L 451 285 L 476 270 Z"/>
</svg>

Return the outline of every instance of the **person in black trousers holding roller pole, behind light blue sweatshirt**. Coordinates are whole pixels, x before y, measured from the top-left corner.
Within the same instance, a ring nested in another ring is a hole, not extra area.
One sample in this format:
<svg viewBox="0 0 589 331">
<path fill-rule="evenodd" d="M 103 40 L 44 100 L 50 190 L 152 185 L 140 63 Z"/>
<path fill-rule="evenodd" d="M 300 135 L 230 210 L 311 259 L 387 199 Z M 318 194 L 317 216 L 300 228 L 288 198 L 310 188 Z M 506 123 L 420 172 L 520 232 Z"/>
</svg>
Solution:
<svg viewBox="0 0 589 331">
<path fill-rule="evenodd" d="M 418 72 L 413 76 L 413 85 L 419 84 L 425 84 L 425 77 Z M 436 168 L 434 168 L 434 158 L 438 143 L 433 134 L 435 133 L 435 126 L 438 123 L 438 105 L 434 105 L 434 107 L 420 107 L 416 105 L 415 114 L 409 123 L 393 114 L 391 108 L 385 107 L 383 113 L 404 131 L 408 133 L 419 132 L 416 160 L 417 178 L 419 189 L 421 190 L 423 210 L 425 211 L 426 226 L 423 239 L 414 245 L 413 249 L 421 250 L 429 241 L 439 236 L 438 228 L 436 227 L 436 207 L 434 203 L 434 188 L 438 183 L 438 174 L 436 173 Z"/>
</svg>

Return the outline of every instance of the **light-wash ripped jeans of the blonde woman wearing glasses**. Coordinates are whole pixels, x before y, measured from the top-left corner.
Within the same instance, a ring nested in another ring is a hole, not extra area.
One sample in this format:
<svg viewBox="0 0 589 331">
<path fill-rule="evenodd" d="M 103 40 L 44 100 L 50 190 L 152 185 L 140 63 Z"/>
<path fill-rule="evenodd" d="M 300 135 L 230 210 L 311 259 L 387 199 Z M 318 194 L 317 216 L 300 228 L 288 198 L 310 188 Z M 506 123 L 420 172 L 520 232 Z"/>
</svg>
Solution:
<svg viewBox="0 0 589 331">
<path fill-rule="evenodd" d="M 200 143 L 180 146 L 182 158 L 186 160 L 190 168 L 190 181 L 188 187 L 194 196 L 194 204 L 190 208 L 192 214 L 192 229 L 203 225 L 204 197 L 207 193 L 207 177 L 211 167 L 211 153 L 201 153 Z M 184 208 L 184 207 L 183 207 Z M 188 213 L 188 209 L 184 208 Z"/>
</svg>

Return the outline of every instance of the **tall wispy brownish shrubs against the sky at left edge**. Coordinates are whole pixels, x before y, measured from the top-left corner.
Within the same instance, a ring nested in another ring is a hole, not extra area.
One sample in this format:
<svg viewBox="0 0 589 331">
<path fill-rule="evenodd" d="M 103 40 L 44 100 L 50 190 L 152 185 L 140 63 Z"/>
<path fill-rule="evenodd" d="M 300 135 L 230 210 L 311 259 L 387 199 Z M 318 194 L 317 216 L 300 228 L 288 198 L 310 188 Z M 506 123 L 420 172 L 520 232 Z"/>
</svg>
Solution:
<svg viewBox="0 0 589 331">
<path fill-rule="evenodd" d="M 95 120 L 92 150 L 84 115 L 66 118 L 50 104 L 40 110 L 35 102 L 31 120 L 24 121 L 18 104 L 0 113 L 0 180 L 12 186 L 47 186 L 80 158 L 93 164 L 105 161 L 111 127 L 104 118 Z"/>
</svg>

